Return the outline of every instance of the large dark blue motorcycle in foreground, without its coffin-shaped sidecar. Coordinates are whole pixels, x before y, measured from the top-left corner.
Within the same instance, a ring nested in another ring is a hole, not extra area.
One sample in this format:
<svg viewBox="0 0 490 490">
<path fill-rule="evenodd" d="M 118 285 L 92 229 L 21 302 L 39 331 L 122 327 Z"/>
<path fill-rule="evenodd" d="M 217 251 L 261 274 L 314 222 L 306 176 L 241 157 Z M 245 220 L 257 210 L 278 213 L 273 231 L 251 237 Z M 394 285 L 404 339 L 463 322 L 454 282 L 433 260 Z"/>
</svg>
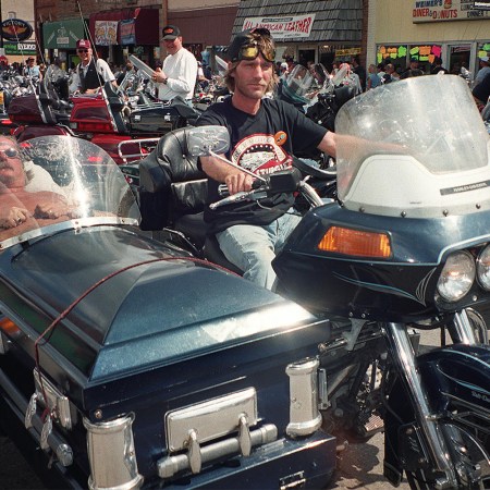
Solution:
<svg viewBox="0 0 490 490">
<path fill-rule="evenodd" d="M 335 127 L 338 200 L 319 201 L 283 171 L 215 206 L 278 188 L 310 197 L 313 209 L 273 267 L 282 295 L 330 319 L 319 345 L 329 431 L 382 429 L 384 475 L 395 487 L 405 475 L 413 489 L 489 488 L 490 347 L 473 309 L 490 303 L 490 142 L 481 118 L 461 77 L 427 76 L 346 102 Z M 191 130 L 191 156 L 212 155 L 223 136 L 213 131 Z M 142 161 L 140 185 L 143 223 L 182 223 L 163 235 L 172 242 L 206 226 L 196 215 L 206 182 L 195 160 L 170 155 L 175 160 L 162 164 Z M 145 194 L 155 197 L 148 206 Z M 416 332 L 432 329 L 451 344 L 425 352 Z"/>
</svg>

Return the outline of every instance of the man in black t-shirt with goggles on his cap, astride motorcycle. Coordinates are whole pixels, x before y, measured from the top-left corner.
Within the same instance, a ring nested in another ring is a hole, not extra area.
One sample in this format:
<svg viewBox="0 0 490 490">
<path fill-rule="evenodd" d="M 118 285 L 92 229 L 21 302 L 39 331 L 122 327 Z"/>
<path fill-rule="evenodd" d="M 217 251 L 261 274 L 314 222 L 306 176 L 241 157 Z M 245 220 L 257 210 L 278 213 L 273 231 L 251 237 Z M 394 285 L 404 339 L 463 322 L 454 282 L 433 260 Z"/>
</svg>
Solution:
<svg viewBox="0 0 490 490">
<path fill-rule="evenodd" d="M 228 57 L 225 82 L 233 95 L 209 107 L 197 122 L 199 126 L 228 128 L 231 145 L 225 157 L 256 175 L 266 175 L 290 168 L 295 152 L 319 148 L 335 156 L 333 133 L 293 106 L 264 98 L 278 81 L 274 45 L 268 29 L 237 34 Z M 225 183 L 232 195 L 250 191 L 254 179 L 240 169 L 213 157 L 201 157 L 200 163 L 209 176 L 209 203 L 220 199 L 220 183 Z M 216 235 L 228 260 L 244 272 L 244 278 L 267 289 L 272 289 L 275 280 L 271 261 L 301 220 L 291 210 L 293 201 L 294 197 L 284 193 L 260 204 L 242 200 L 205 209 L 209 233 Z"/>
</svg>

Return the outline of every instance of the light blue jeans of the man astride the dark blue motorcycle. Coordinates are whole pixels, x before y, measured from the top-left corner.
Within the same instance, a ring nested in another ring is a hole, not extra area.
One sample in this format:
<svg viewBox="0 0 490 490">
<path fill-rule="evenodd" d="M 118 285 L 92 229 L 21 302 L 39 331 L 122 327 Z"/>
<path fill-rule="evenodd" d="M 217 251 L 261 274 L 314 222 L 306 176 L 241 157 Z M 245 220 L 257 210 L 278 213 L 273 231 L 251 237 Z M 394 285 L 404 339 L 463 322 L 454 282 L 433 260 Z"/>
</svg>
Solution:
<svg viewBox="0 0 490 490">
<path fill-rule="evenodd" d="M 245 279 L 271 290 L 275 282 L 271 262 L 301 220 L 301 216 L 286 213 L 267 225 L 235 224 L 216 236 L 226 259 L 243 270 Z"/>
</svg>

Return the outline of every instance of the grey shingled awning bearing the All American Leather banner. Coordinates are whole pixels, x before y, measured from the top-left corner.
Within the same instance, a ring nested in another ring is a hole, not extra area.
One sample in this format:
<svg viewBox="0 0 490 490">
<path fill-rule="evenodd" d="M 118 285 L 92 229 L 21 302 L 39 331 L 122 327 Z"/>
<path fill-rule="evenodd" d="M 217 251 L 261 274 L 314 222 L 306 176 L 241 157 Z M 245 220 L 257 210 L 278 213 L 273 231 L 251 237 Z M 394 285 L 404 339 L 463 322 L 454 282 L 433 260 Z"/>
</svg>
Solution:
<svg viewBox="0 0 490 490">
<path fill-rule="evenodd" d="M 244 28 L 258 26 L 268 27 L 277 41 L 358 44 L 363 1 L 242 0 L 233 36 Z"/>
</svg>

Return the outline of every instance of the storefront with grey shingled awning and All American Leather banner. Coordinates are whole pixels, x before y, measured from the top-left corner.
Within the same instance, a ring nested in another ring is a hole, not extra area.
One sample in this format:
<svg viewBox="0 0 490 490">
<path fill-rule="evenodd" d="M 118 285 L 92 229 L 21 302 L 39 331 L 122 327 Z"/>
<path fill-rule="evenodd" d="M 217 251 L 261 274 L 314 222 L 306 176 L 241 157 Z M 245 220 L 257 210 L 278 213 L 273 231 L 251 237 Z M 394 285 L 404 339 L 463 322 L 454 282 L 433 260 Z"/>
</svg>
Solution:
<svg viewBox="0 0 490 490">
<path fill-rule="evenodd" d="M 265 0 L 260 7 L 245 5 L 250 3 L 238 5 L 233 35 L 247 28 L 267 27 L 275 40 L 277 61 L 287 56 L 302 64 L 321 62 L 331 70 L 334 60 L 350 61 L 362 53 L 362 0 Z"/>
</svg>

